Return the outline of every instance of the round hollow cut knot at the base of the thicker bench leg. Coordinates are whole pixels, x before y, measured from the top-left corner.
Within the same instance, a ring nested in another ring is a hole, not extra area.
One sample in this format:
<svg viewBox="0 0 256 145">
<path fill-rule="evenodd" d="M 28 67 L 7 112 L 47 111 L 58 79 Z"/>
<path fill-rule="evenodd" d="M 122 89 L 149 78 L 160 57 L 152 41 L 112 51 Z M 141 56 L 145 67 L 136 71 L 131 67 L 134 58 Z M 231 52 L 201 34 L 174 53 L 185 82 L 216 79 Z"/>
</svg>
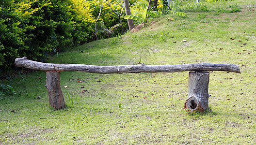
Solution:
<svg viewBox="0 0 256 145">
<path fill-rule="evenodd" d="M 190 97 L 184 103 L 184 109 L 190 113 L 193 112 L 201 112 L 203 113 L 205 110 L 201 107 L 200 102 L 196 99 L 196 97 Z"/>
</svg>

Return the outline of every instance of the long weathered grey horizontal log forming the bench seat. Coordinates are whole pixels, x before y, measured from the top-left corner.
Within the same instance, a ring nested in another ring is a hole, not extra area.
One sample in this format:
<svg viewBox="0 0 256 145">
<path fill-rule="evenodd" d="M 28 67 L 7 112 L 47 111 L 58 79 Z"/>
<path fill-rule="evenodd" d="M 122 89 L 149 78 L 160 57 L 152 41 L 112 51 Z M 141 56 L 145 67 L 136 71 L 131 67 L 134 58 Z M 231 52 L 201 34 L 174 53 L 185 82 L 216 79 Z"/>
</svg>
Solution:
<svg viewBox="0 0 256 145">
<path fill-rule="evenodd" d="M 23 58 L 15 59 L 16 67 L 24 67 L 40 71 L 86 72 L 86 73 L 174 73 L 185 71 L 225 71 L 240 73 L 238 65 L 217 63 L 193 63 L 177 65 L 120 65 L 95 66 L 85 64 L 42 63 Z"/>
</svg>

